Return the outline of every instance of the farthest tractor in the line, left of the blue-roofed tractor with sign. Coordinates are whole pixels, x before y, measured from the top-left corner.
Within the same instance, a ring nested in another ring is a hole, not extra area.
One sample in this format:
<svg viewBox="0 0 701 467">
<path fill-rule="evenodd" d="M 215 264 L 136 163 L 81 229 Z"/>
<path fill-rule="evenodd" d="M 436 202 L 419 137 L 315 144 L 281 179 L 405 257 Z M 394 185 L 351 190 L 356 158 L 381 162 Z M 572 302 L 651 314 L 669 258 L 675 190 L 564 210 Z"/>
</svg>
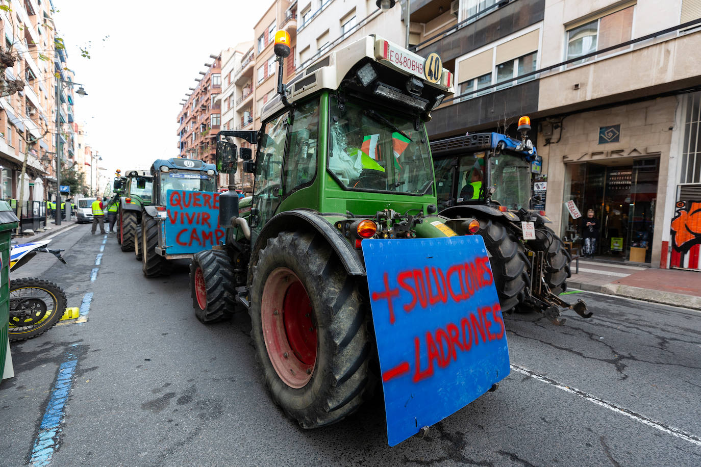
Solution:
<svg viewBox="0 0 701 467">
<path fill-rule="evenodd" d="M 151 204 L 152 177 L 146 170 L 129 170 L 120 177 L 121 193 L 117 218 L 117 242 L 122 251 L 134 251 L 141 213 Z M 117 180 L 115 180 L 115 186 Z M 116 190 L 115 190 L 116 191 Z"/>
</svg>

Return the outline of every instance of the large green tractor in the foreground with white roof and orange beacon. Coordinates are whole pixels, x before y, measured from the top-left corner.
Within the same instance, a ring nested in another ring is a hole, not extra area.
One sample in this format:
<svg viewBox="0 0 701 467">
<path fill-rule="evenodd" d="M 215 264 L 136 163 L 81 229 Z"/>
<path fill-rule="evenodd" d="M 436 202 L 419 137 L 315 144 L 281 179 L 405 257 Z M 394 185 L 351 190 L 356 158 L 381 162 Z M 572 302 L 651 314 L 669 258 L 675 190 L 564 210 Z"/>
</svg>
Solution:
<svg viewBox="0 0 701 467">
<path fill-rule="evenodd" d="M 362 245 L 458 238 L 437 215 L 424 127 L 453 85 L 437 55 L 379 36 L 330 53 L 287 85 L 285 49 L 276 43 L 275 53 L 278 95 L 262 109 L 261 129 L 217 135 L 217 164 L 230 179 L 232 138 L 257 145 L 255 160 L 238 151 L 254 189 L 240 202 L 233 186 L 219 196 L 226 240 L 193 257 L 191 293 L 203 323 L 247 309 L 273 401 L 315 428 L 353 413 L 378 381 Z M 431 60 L 440 67 L 433 74 L 416 65 Z"/>
</svg>

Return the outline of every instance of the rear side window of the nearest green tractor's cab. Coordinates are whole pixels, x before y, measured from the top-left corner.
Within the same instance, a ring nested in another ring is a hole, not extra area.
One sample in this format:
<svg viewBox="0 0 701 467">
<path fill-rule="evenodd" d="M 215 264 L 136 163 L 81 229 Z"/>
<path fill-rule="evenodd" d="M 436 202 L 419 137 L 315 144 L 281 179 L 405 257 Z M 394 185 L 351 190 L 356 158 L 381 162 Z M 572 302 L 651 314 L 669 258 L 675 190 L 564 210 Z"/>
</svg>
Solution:
<svg viewBox="0 0 701 467">
<path fill-rule="evenodd" d="M 319 99 L 294 109 L 287 147 L 292 148 L 284 161 L 284 193 L 301 188 L 314 179 L 319 134 Z"/>
</svg>

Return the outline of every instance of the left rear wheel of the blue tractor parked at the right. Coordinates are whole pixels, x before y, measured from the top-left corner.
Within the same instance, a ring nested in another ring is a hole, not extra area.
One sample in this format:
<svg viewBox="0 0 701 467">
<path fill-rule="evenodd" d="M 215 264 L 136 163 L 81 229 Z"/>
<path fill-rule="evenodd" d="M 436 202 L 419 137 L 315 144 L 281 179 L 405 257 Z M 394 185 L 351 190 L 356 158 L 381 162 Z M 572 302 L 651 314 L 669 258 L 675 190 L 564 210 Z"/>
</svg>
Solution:
<svg viewBox="0 0 701 467">
<path fill-rule="evenodd" d="M 512 312 L 524 301 L 525 289 L 529 285 L 529 260 L 524 246 L 505 225 L 492 219 L 478 219 L 479 231 L 487 251 L 494 274 L 494 285 L 503 312 Z"/>
</svg>

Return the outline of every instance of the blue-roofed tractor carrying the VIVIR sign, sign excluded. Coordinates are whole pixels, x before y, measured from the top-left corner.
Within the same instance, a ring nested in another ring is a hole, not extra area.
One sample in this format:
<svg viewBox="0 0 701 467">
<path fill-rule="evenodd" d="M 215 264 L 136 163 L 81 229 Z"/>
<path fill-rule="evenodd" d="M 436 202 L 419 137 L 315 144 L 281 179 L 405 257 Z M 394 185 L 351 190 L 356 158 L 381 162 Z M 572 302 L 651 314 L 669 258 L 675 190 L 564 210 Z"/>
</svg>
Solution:
<svg viewBox="0 0 701 467">
<path fill-rule="evenodd" d="M 168 191 L 213 194 L 217 191 L 218 173 L 214 164 L 197 159 L 158 159 L 151 165 L 149 180 L 152 181 L 153 195 L 140 213 L 141 223 L 135 231 L 134 243 L 136 258 L 142 261 L 146 277 L 168 274 L 168 260 L 189 259 L 201 249 L 196 244 L 177 249 L 177 245 L 166 242 L 173 232 L 173 224 L 167 222 Z"/>
</svg>

